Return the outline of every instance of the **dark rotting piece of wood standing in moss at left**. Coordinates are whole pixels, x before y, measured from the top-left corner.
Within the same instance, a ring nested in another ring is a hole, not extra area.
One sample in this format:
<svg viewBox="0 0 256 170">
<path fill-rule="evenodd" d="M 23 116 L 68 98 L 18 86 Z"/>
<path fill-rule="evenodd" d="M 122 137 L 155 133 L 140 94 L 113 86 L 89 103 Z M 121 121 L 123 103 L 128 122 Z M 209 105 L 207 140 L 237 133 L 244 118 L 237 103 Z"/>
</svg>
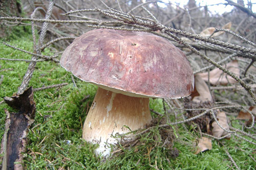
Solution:
<svg viewBox="0 0 256 170">
<path fill-rule="evenodd" d="M 5 97 L 5 102 L 17 109 L 16 113 L 6 113 L 6 130 L 1 143 L 1 154 L 4 154 L 2 169 L 24 169 L 23 155 L 26 147 L 26 136 L 30 126 L 34 123 L 36 105 L 33 99 L 32 87 L 22 94 Z"/>
</svg>

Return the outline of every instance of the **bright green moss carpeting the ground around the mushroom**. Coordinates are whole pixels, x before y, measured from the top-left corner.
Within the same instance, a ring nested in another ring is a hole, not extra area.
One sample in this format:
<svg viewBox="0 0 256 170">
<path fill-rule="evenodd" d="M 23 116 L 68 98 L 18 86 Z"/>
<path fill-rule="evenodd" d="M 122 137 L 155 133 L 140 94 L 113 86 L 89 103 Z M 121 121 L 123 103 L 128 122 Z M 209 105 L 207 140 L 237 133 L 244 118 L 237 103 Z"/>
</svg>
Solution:
<svg viewBox="0 0 256 170">
<path fill-rule="evenodd" d="M 33 51 L 31 34 L 9 39 L 9 44 Z M 13 50 L 0 43 L 0 58 L 30 59 L 31 56 Z M 51 55 L 49 49 L 44 52 Z M 0 85 L 1 101 L 4 96 L 11 96 L 22 83 L 28 67 L 27 62 L 0 60 L 1 72 L 4 75 Z M 82 126 L 87 113 L 87 106 L 91 106 L 96 87 L 75 79 L 74 86 L 71 74 L 54 62 L 38 62 L 30 86 L 38 88 L 59 83 L 69 83 L 61 88 L 52 88 L 34 92 L 36 103 L 35 122 L 32 125 L 27 139 L 27 150 L 24 153 L 24 165 L 27 169 L 230 169 L 234 167 L 225 150 L 228 150 L 234 161 L 241 169 L 254 169 L 255 146 L 242 139 L 231 137 L 230 140 L 212 141 L 212 150 L 195 155 L 195 142 L 200 137 L 193 130 L 186 131 L 183 126 L 176 127 L 173 149 L 179 151 L 174 158 L 172 149 L 162 147 L 161 129 L 156 126 L 141 135 L 140 140 L 133 147 L 120 146 L 117 152 L 107 161 L 96 157 L 93 149 L 97 145 L 87 143 L 81 139 Z M 83 100 L 88 94 L 90 97 Z M 151 100 L 150 107 L 163 114 L 162 100 Z M 7 104 L 0 105 L 0 138 L 5 130 L 5 112 L 15 111 Z M 152 113 L 154 117 L 156 114 Z M 170 116 L 171 120 L 174 117 Z M 238 120 L 233 126 L 241 128 Z M 172 132 L 172 130 L 168 130 Z M 254 152 L 254 156 L 253 156 Z"/>
</svg>

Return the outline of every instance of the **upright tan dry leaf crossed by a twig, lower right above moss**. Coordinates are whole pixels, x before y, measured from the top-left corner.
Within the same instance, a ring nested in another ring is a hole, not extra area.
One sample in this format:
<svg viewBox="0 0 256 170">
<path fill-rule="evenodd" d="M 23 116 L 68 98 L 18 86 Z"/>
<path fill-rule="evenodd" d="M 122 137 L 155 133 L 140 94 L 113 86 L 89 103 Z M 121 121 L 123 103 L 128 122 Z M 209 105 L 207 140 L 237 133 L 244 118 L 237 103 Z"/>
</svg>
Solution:
<svg viewBox="0 0 256 170">
<path fill-rule="evenodd" d="M 227 123 L 227 116 L 225 114 L 225 112 L 218 112 L 217 113 L 217 119 L 218 119 L 218 122 L 220 123 L 220 125 L 225 128 L 226 130 L 229 130 L 229 126 L 228 126 L 228 123 Z M 217 124 L 217 122 L 213 122 L 211 124 L 211 126 L 213 127 L 212 129 L 212 133 L 215 137 L 221 137 L 221 136 L 225 136 L 227 135 L 228 133 L 226 131 L 224 131 L 223 129 L 221 129 L 219 127 L 219 125 Z"/>
</svg>

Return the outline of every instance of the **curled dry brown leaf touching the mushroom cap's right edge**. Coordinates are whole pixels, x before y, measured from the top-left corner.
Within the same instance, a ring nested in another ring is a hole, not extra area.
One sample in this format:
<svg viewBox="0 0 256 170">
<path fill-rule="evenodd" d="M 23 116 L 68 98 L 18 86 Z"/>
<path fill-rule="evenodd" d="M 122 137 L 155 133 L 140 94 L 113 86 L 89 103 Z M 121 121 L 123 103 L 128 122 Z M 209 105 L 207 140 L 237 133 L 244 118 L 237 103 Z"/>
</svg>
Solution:
<svg viewBox="0 0 256 170">
<path fill-rule="evenodd" d="M 212 101 L 210 90 L 200 75 L 195 75 L 195 88 L 190 96 L 192 97 L 192 101 L 197 103 Z"/>
</svg>

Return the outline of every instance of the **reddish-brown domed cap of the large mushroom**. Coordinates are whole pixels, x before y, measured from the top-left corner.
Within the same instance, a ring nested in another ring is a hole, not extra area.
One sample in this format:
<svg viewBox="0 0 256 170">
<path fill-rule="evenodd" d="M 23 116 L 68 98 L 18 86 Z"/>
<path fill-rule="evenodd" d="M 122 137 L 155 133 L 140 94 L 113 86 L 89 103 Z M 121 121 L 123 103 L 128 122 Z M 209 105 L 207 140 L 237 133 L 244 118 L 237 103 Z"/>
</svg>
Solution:
<svg viewBox="0 0 256 170">
<path fill-rule="evenodd" d="M 76 38 L 60 65 L 101 88 L 144 98 L 181 98 L 194 89 L 185 54 L 151 33 L 97 29 Z"/>
</svg>

